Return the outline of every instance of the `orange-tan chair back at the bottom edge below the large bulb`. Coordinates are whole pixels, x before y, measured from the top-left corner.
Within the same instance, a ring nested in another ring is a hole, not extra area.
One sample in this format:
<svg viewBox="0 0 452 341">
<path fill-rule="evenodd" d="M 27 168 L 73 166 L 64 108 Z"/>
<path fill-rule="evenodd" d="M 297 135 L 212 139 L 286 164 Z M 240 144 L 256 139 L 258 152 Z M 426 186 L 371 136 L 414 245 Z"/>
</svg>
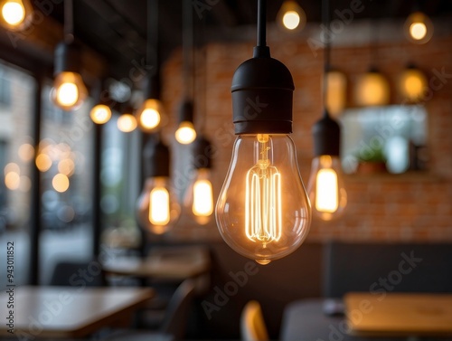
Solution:
<svg viewBox="0 0 452 341">
<path fill-rule="evenodd" d="M 267 341 L 268 332 L 258 301 L 245 305 L 240 317 L 240 334 L 243 341 Z"/>
</svg>

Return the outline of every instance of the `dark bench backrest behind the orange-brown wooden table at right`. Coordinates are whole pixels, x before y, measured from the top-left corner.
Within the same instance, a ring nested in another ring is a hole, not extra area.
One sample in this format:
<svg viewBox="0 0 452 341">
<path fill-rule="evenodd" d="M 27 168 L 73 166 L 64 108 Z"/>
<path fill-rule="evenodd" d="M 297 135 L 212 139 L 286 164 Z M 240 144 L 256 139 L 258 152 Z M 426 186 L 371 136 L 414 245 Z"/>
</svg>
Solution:
<svg viewBox="0 0 452 341">
<path fill-rule="evenodd" d="M 349 291 L 452 292 L 452 246 L 331 242 L 324 290 L 327 298 Z"/>
</svg>

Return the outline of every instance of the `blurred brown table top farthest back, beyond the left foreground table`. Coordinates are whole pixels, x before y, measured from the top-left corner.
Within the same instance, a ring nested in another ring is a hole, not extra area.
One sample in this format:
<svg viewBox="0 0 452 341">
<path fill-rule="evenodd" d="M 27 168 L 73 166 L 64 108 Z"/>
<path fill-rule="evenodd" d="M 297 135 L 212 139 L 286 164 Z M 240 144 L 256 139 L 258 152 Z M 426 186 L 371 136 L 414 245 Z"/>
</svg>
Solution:
<svg viewBox="0 0 452 341">
<path fill-rule="evenodd" d="M 155 248 L 146 259 L 118 257 L 102 264 L 109 274 L 158 279 L 188 279 L 210 269 L 209 251 L 202 247 Z"/>
</svg>

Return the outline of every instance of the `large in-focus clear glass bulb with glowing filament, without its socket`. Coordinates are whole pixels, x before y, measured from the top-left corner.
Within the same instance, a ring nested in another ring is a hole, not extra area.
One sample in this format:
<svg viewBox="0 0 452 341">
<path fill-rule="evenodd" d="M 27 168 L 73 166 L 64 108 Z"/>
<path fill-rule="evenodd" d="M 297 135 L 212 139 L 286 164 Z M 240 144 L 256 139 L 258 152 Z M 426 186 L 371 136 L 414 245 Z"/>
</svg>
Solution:
<svg viewBox="0 0 452 341">
<path fill-rule="evenodd" d="M 237 137 L 215 214 L 224 241 L 259 264 L 295 251 L 309 232 L 311 206 L 292 138 Z"/>
</svg>

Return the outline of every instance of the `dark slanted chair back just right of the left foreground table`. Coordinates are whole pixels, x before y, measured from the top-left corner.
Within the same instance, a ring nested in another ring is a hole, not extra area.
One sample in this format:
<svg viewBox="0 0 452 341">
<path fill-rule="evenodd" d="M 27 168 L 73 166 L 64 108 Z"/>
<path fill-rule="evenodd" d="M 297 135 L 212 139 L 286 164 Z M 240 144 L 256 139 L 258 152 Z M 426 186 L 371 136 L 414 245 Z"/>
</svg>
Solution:
<svg viewBox="0 0 452 341">
<path fill-rule="evenodd" d="M 184 339 L 190 308 L 194 296 L 193 279 L 185 279 L 168 302 L 161 331 L 170 334 L 174 340 Z"/>
</svg>

